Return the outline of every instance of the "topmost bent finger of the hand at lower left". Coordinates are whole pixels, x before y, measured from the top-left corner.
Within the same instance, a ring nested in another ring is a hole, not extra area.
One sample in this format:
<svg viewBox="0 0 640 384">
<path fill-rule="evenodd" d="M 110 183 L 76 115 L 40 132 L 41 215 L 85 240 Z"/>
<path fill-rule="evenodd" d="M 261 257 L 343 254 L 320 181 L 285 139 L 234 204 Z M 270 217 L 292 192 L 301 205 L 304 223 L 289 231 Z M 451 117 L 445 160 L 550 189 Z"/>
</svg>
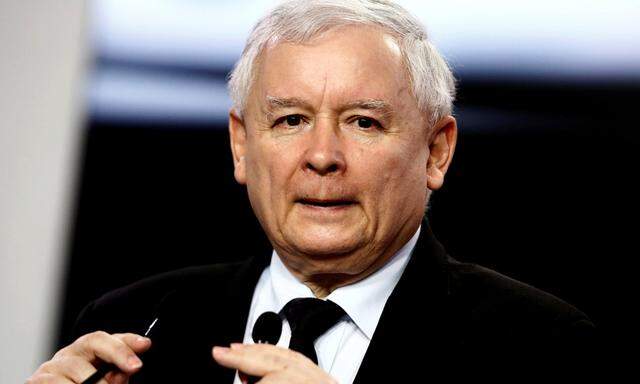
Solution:
<svg viewBox="0 0 640 384">
<path fill-rule="evenodd" d="M 142 361 L 124 341 L 106 332 L 84 335 L 67 348 L 64 354 L 76 354 L 92 363 L 96 360 L 111 363 L 127 373 L 136 372 L 142 367 Z"/>
</svg>

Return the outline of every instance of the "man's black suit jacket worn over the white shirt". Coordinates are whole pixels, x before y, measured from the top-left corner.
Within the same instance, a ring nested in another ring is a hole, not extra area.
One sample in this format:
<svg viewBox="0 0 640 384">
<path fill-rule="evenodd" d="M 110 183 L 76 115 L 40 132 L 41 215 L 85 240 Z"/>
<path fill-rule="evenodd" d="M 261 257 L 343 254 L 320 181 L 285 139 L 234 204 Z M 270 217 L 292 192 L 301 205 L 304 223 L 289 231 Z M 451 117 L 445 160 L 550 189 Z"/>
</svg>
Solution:
<svg viewBox="0 0 640 384">
<path fill-rule="evenodd" d="M 76 335 L 143 333 L 158 316 L 153 346 L 132 383 L 230 384 L 234 372 L 217 365 L 211 349 L 242 341 L 268 262 L 264 255 L 188 268 L 118 289 L 84 309 Z M 355 383 L 414 382 L 438 374 L 512 379 L 558 368 L 573 375 L 595 360 L 594 329 L 582 312 L 548 293 L 451 258 L 423 223 Z"/>
</svg>

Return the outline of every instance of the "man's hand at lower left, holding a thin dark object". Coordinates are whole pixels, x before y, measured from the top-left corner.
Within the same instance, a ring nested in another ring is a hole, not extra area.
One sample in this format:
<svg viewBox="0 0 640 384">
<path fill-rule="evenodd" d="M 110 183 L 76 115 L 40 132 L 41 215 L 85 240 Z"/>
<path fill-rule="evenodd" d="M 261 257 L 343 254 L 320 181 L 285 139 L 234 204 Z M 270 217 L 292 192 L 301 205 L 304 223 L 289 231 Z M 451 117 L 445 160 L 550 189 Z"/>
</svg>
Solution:
<svg viewBox="0 0 640 384">
<path fill-rule="evenodd" d="M 27 379 L 27 384 L 82 383 L 103 363 L 111 363 L 119 371 L 108 373 L 98 383 L 124 384 L 142 367 L 137 354 L 150 346 L 150 339 L 133 333 L 89 333 L 59 350 Z"/>
</svg>

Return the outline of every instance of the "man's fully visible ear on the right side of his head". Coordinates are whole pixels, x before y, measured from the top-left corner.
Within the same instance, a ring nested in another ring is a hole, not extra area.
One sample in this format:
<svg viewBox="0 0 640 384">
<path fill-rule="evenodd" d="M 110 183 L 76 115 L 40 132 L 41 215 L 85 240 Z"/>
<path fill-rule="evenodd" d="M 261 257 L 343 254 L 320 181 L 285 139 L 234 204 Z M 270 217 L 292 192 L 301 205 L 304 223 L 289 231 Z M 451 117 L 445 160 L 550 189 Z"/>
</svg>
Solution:
<svg viewBox="0 0 640 384">
<path fill-rule="evenodd" d="M 427 161 L 427 188 L 430 190 L 440 189 L 444 184 L 457 140 L 458 126 L 453 116 L 444 117 L 432 128 Z"/>
</svg>

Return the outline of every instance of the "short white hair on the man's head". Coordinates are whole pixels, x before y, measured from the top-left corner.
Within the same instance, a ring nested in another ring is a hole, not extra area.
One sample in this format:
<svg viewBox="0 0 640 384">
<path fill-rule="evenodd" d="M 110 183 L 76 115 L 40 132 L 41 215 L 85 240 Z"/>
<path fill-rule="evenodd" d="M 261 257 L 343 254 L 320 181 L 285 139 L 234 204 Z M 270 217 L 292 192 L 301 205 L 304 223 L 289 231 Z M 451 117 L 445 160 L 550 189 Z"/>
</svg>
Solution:
<svg viewBox="0 0 640 384">
<path fill-rule="evenodd" d="M 404 8 L 387 0 L 290 0 L 255 25 L 242 56 L 229 75 L 233 108 L 242 116 L 256 77 L 256 63 L 267 47 L 311 41 L 346 25 L 378 26 L 396 39 L 420 111 L 431 125 L 450 115 L 455 79 L 444 58 L 427 38 L 421 23 Z"/>
</svg>

